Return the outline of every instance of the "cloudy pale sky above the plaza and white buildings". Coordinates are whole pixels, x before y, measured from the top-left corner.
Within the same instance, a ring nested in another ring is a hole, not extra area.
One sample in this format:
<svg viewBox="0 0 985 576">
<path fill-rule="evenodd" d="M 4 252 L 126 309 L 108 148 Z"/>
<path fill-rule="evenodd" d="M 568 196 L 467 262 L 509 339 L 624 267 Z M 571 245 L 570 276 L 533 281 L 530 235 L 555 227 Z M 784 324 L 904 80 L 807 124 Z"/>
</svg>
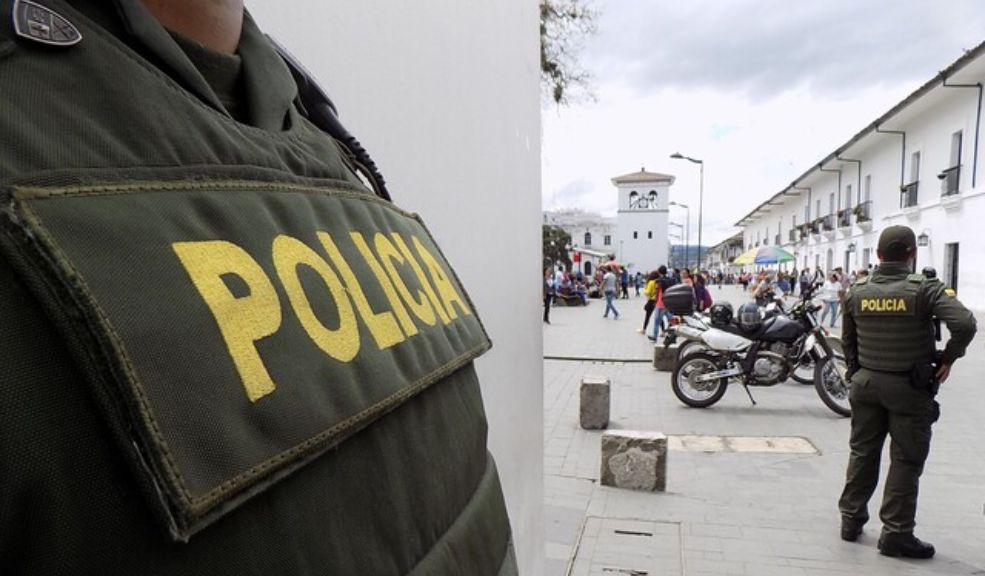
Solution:
<svg viewBox="0 0 985 576">
<path fill-rule="evenodd" d="M 595 0 L 597 101 L 544 104 L 545 209 L 614 215 L 610 179 L 677 177 L 697 242 L 732 224 L 985 41 L 982 0 Z M 682 222 L 671 208 L 671 221 Z"/>
</svg>

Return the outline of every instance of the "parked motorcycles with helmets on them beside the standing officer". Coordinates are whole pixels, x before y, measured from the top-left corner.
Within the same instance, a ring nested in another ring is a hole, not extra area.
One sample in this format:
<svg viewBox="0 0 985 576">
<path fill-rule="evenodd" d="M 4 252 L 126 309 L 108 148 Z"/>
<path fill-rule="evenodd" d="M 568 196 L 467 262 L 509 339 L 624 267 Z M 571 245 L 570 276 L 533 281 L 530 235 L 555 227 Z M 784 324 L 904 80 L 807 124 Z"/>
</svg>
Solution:
<svg viewBox="0 0 985 576">
<path fill-rule="evenodd" d="M 664 294 L 674 316 L 663 344 L 680 341 L 671 385 L 681 402 L 707 408 L 722 399 L 730 383 L 739 383 L 756 404 L 751 386 L 775 386 L 790 378 L 813 384 L 836 414 L 851 415 L 845 359 L 817 320 L 820 304 L 803 298 L 786 310 L 776 299 L 733 311 L 720 303 L 700 314 L 690 292 L 683 285 Z"/>
</svg>

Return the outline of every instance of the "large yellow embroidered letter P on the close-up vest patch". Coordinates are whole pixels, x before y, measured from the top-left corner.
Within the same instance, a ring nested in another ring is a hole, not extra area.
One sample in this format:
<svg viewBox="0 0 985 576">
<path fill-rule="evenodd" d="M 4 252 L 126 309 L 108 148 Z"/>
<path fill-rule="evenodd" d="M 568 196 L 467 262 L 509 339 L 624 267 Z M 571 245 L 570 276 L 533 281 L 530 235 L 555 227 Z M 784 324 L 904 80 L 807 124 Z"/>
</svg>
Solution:
<svg viewBox="0 0 985 576">
<path fill-rule="evenodd" d="M 256 402 L 276 389 L 255 342 L 280 328 L 281 308 L 270 279 L 245 250 L 223 240 L 175 242 L 171 245 L 192 284 L 215 316 L 246 397 Z M 249 288 L 236 297 L 223 275 L 234 274 Z"/>
</svg>

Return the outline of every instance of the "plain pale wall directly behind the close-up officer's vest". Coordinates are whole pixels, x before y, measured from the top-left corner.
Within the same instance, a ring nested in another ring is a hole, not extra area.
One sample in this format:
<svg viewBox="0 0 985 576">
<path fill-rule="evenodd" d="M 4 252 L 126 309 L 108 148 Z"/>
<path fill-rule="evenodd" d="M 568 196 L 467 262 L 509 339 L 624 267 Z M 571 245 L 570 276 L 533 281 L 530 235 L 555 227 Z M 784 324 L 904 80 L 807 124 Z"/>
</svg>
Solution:
<svg viewBox="0 0 985 576">
<path fill-rule="evenodd" d="M 474 299 L 494 343 L 478 362 L 490 449 L 521 571 L 542 573 L 537 3 L 247 7 L 316 76 Z"/>
</svg>

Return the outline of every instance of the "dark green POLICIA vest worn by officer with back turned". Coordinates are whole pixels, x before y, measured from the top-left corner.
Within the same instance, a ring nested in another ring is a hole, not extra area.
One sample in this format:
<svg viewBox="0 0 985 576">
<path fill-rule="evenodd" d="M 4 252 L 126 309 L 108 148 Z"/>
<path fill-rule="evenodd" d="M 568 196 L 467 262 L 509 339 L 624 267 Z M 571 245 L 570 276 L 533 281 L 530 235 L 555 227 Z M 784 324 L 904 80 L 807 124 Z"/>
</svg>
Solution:
<svg viewBox="0 0 985 576">
<path fill-rule="evenodd" d="M 926 279 L 910 274 L 902 280 L 862 279 L 852 286 L 851 306 L 858 332 L 858 361 L 865 368 L 905 372 L 929 360 L 934 329 L 919 297 Z"/>
</svg>

